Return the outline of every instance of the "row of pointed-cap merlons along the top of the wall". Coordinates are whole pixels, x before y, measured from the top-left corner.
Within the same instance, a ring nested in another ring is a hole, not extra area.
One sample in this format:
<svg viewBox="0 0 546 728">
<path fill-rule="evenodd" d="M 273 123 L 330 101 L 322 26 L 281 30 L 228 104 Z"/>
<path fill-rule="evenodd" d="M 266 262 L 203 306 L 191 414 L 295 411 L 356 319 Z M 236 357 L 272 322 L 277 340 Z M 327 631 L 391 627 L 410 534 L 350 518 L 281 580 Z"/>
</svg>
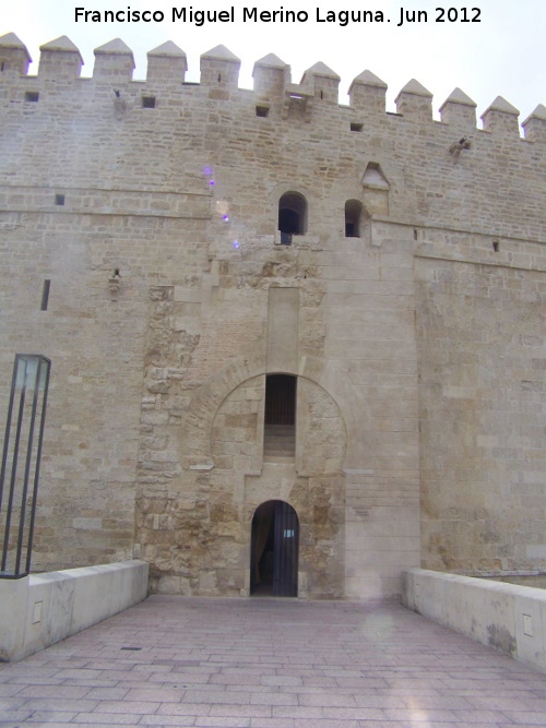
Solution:
<svg viewBox="0 0 546 728">
<path fill-rule="evenodd" d="M 170 40 L 149 51 L 144 82 L 133 81 L 133 52 L 121 39 L 116 38 L 99 46 L 94 55 L 92 80 L 97 84 L 111 84 L 118 91 L 127 84 L 147 84 L 154 89 L 159 91 L 163 87 L 169 92 L 188 85 L 185 84 L 187 56 Z M 37 89 L 54 82 L 61 84 L 88 81 L 81 76 L 84 61 L 80 50 L 67 36 L 40 46 L 36 76 L 27 75 L 31 61 L 26 46 L 14 33 L 1 36 L 0 87 L 9 84 L 17 88 L 20 81 L 24 79 L 21 93 L 26 93 L 31 80 Z M 192 85 L 207 89 L 212 99 L 230 100 L 232 94 L 239 91 L 240 63 L 240 59 L 225 46 L 216 46 L 201 56 L 200 82 Z M 290 67 L 270 53 L 256 61 L 252 77 L 259 116 L 268 116 L 269 110 L 276 107 L 283 118 L 287 118 L 290 110 L 295 109 L 306 121 L 310 121 L 319 105 L 322 108 L 328 105 L 339 106 L 341 79 L 320 61 L 305 71 L 299 83 L 293 83 Z M 387 88 L 387 83 L 371 71 L 364 71 L 351 83 L 349 108 L 367 120 L 378 120 L 385 115 Z M 430 91 L 412 79 L 395 98 L 396 115 L 413 122 L 432 122 L 432 98 Z M 123 102 L 119 102 L 118 111 L 122 107 Z M 476 108 L 477 105 L 470 96 L 461 88 L 455 88 L 440 106 L 440 121 L 456 127 L 458 131 L 470 133 L 477 129 Z M 480 116 L 482 130 L 495 135 L 519 138 L 519 116 L 515 107 L 497 96 Z M 526 141 L 545 143 L 546 107 L 539 104 L 521 126 Z"/>
</svg>

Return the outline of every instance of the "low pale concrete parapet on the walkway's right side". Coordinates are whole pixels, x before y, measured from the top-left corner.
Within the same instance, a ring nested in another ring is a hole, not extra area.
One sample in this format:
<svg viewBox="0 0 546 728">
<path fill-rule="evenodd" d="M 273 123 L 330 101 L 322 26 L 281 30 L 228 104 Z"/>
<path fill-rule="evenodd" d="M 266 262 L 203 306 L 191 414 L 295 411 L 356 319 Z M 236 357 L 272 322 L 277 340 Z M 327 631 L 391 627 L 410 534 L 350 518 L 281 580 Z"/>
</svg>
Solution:
<svg viewBox="0 0 546 728">
<path fill-rule="evenodd" d="M 404 572 L 402 602 L 546 672 L 546 590 L 424 569 Z"/>
</svg>

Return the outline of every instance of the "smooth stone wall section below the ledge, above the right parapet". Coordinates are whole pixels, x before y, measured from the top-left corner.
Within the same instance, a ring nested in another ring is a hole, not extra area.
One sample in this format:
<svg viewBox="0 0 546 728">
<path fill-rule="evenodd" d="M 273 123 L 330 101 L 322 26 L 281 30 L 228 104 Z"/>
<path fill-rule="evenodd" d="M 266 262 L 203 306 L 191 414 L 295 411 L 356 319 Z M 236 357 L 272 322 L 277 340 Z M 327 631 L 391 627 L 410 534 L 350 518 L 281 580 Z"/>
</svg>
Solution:
<svg viewBox="0 0 546 728">
<path fill-rule="evenodd" d="M 436 246 L 435 259 L 425 244 L 416 265 L 423 563 L 541 570 L 544 249 L 502 240 L 495 252 L 478 239 L 482 254 L 463 262 L 454 251 L 465 242 Z"/>
</svg>

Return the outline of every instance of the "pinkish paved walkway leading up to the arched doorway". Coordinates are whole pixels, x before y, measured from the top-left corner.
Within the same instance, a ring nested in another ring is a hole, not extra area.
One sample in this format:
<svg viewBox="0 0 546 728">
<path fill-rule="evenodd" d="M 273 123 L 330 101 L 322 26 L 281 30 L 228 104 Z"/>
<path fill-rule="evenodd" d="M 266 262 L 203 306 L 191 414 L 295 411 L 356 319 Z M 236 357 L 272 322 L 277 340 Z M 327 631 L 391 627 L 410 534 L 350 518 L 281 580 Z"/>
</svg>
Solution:
<svg viewBox="0 0 546 728">
<path fill-rule="evenodd" d="M 0 666 L 0 726 L 546 726 L 546 676 L 399 605 L 151 597 Z"/>
</svg>

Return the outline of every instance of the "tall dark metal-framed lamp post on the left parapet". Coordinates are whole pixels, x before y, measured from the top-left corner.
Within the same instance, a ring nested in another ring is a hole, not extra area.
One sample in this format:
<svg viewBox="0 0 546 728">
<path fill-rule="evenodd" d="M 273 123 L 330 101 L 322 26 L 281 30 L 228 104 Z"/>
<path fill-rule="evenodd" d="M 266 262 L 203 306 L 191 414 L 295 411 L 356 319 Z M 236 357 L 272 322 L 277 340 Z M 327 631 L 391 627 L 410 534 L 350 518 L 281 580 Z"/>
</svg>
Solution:
<svg viewBox="0 0 546 728">
<path fill-rule="evenodd" d="M 16 354 L 0 470 L 0 578 L 31 571 L 51 361 Z"/>
</svg>

